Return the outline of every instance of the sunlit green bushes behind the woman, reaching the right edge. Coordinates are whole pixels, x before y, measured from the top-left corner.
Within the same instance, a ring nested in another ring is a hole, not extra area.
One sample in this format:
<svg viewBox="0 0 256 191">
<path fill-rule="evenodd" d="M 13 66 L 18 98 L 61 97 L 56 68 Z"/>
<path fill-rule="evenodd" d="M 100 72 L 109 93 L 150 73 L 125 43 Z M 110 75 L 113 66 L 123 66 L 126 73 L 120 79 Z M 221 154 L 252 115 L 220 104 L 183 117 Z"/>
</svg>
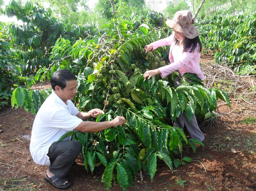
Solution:
<svg viewBox="0 0 256 191">
<path fill-rule="evenodd" d="M 213 17 L 197 25 L 205 53 L 214 53 L 217 62 L 227 62 L 241 74 L 256 73 L 256 13 L 250 17 Z"/>
</svg>

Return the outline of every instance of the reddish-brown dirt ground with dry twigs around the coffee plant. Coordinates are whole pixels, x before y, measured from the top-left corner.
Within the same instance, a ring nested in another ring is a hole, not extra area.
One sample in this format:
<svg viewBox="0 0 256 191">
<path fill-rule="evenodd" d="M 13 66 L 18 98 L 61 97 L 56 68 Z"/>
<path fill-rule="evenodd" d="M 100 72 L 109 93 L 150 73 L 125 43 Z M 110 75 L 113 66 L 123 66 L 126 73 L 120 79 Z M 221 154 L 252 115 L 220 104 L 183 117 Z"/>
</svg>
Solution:
<svg viewBox="0 0 256 191">
<path fill-rule="evenodd" d="M 235 75 L 217 65 L 211 57 L 201 59 L 207 88 L 216 86 L 230 97 L 232 108 L 218 101 L 214 121 L 200 124 L 205 134 L 205 147 L 184 151 L 179 157 L 190 157 L 191 163 L 171 171 L 159 161 L 151 182 L 146 172 L 143 181 L 136 177 L 128 191 L 254 191 L 256 190 L 256 79 Z M 47 88 L 49 84 L 40 88 Z M 22 108 L 0 110 L 0 190 L 55 191 L 45 182 L 47 166 L 33 162 L 29 138 L 34 116 Z M 104 191 L 103 168 L 94 174 L 86 172 L 79 156 L 69 178 L 70 191 Z M 122 191 L 114 184 L 110 191 Z"/>
</svg>

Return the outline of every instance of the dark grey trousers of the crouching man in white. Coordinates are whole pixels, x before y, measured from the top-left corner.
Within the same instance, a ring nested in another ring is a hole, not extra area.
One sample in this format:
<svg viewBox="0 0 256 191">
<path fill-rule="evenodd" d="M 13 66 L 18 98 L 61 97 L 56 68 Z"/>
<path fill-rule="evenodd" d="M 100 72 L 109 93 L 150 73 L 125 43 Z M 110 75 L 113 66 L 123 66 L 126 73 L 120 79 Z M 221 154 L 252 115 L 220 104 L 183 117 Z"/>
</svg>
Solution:
<svg viewBox="0 0 256 191">
<path fill-rule="evenodd" d="M 81 147 L 80 142 L 74 140 L 52 143 L 47 154 L 51 162 L 49 171 L 59 178 L 65 178 L 81 152 Z"/>
</svg>

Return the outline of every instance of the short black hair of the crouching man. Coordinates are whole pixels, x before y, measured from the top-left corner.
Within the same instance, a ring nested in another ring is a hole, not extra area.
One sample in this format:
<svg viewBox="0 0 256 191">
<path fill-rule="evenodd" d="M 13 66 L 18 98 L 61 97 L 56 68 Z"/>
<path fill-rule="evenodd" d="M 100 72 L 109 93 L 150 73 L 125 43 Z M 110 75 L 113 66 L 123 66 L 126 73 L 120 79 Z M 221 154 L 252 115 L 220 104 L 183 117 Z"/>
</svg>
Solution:
<svg viewBox="0 0 256 191">
<path fill-rule="evenodd" d="M 55 91 L 56 85 L 62 90 L 66 87 L 66 81 L 77 80 L 78 78 L 69 70 L 61 69 L 53 73 L 51 78 L 51 85 L 53 91 Z"/>
</svg>

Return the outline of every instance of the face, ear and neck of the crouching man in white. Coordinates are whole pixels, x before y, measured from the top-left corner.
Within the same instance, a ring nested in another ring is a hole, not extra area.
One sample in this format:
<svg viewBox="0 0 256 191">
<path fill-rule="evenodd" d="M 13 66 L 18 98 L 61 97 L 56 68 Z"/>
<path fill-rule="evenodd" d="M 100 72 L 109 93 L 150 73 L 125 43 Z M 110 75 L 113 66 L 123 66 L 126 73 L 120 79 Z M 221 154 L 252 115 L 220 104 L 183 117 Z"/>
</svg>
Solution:
<svg viewBox="0 0 256 191">
<path fill-rule="evenodd" d="M 77 93 L 77 80 L 66 81 L 66 87 L 62 90 L 59 86 L 55 87 L 55 94 L 65 103 L 67 100 L 73 100 Z"/>
</svg>

